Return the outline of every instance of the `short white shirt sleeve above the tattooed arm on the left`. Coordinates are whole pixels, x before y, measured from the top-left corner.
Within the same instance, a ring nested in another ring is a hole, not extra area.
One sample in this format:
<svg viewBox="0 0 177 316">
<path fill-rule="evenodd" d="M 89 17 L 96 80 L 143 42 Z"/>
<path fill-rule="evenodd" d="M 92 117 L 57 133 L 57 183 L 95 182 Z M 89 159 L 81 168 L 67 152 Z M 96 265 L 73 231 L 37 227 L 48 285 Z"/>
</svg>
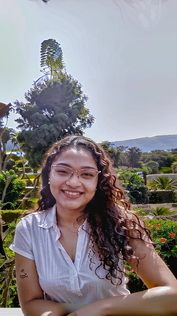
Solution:
<svg viewBox="0 0 177 316">
<path fill-rule="evenodd" d="M 31 235 L 26 226 L 26 220 L 24 218 L 22 218 L 17 224 L 15 228 L 14 240 L 9 248 L 26 258 L 34 260 Z"/>
</svg>

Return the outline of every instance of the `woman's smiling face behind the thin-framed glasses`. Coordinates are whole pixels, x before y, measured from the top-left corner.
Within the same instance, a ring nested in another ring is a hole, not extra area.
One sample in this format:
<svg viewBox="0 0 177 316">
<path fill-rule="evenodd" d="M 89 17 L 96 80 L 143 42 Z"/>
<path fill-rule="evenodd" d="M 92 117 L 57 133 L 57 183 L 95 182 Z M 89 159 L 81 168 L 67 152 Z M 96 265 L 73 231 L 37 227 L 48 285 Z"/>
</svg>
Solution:
<svg viewBox="0 0 177 316">
<path fill-rule="evenodd" d="M 52 165 L 67 164 L 73 170 L 85 169 L 88 167 L 98 170 L 97 165 L 86 149 L 66 149 L 63 150 Z M 64 181 L 54 179 L 52 169 L 49 172 L 50 191 L 56 199 L 57 209 L 83 210 L 88 202 L 94 197 L 98 183 L 98 175 L 91 184 L 84 184 L 79 181 L 77 173 Z M 67 191 L 67 192 L 66 192 Z M 79 195 L 72 195 L 71 192 L 79 192 Z"/>
</svg>

